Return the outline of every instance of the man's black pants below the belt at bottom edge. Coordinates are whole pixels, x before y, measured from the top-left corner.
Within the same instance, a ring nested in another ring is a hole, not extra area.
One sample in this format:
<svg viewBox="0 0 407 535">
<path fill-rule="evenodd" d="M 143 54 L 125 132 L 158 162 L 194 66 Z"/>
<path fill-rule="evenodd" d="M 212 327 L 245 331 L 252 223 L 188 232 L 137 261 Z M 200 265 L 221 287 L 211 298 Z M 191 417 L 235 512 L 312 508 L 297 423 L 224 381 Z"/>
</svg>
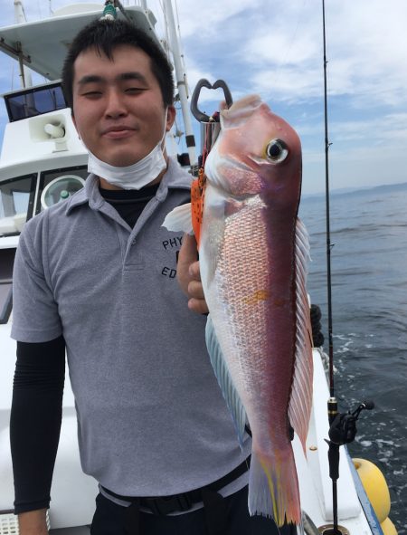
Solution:
<svg viewBox="0 0 407 535">
<path fill-rule="evenodd" d="M 294 526 L 277 529 L 270 519 L 251 517 L 247 508 L 247 487 L 224 499 L 227 508 L 227 530 L 224 535 L 295 535 Z M 96 512 L 91 535 L 131 535 L 125 530 L 126 507 L 111 502 L 103 495 L 96 498 Z M 207 535 L 204 509 L 181 515 L 156 516 L 140 511 L 140 535 Z"/>
</svg>

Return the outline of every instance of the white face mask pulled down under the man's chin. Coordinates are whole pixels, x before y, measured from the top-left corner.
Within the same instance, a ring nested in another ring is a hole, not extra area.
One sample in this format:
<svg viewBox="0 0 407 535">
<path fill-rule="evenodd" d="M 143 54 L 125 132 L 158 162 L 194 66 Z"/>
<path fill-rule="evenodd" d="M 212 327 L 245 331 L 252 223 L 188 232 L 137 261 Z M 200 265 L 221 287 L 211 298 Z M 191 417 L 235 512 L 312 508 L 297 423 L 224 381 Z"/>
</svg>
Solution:
<svg viewBox="0 0 407 535">
<path fill-rule="evenodd" d="M 167 112 L 166 112 L 167 113 Z M 88 171 L 104 178 L 109 184 L 122 187 L 123 189 L 141 189 L 156 179 L 166 168 L 166 158 L 162 144 L 166 138 L 166 123 L 164 134 L 159 143 L 143 159 L 132 166 L 115 167 L 96 158 L 89 152 Z"/>
</svg>

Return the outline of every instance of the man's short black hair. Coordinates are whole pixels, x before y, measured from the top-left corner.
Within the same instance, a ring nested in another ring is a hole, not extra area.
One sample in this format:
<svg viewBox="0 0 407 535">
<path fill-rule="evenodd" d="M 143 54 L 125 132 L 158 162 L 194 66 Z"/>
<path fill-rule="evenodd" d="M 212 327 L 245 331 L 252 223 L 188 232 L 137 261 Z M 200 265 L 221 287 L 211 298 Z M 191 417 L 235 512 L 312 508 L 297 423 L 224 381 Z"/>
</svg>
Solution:
<svg viewBox="0 0 407 535">
<path fill-rule="evenodd" d="M 160 86 L 165 106 L 174 102 L 174 79 L 171 65 L 166 54 L 147 33 L 134 24 L 124 20 L 97 19 L 85 26 L 71 43 L 69 53 L 65 58 L 62 69 L 62 90 L 73 113 L 73 63 L 80 53 L 95 48 L 105 54 L 110 60 L 114 49 L 121 44 L 129 44 L 139 48 L 150 58 L 151 72 L 153 72 Z"/>
</svg>

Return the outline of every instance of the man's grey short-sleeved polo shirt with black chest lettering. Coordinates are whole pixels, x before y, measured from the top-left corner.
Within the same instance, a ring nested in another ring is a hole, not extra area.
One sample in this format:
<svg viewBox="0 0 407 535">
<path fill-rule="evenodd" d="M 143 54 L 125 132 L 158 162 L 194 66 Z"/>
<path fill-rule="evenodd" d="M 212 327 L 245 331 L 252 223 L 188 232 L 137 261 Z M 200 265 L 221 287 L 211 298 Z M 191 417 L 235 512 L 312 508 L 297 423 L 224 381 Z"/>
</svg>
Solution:
<svg viewBox="0 0 407 535">
<path fill-rule="evenodd" d="M 12 336 L 64 336 L 85 473 L 122 495 L 167 495 L 232 471 L 241 452 L 204 342 L 175 279 L 182 234 L 162 227 L 189 198 L 171 160 L 134 229 L 90 175 L 33 217 L 14 263 Z M 244 478 L 243 478 L 244 479 Z M 228 487 L 235 492 L 243 479 Z"/>
</svg>

